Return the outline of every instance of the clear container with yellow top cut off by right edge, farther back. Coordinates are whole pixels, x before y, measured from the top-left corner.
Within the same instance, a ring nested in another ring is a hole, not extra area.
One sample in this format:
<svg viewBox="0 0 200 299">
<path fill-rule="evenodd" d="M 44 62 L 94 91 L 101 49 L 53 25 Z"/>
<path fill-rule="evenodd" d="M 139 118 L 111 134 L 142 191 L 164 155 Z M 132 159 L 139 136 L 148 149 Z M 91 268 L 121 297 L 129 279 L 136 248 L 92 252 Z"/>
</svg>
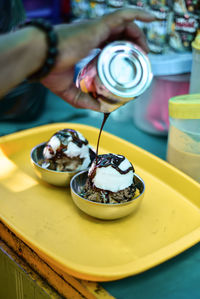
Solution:
<svg viewBox="0 0 200 299">
<path fill-rule="evenodd" d="M 190 93 L 200 93 L 200 32 L 192 42 L 192 71 L 190 77 Z"/>
</svg>

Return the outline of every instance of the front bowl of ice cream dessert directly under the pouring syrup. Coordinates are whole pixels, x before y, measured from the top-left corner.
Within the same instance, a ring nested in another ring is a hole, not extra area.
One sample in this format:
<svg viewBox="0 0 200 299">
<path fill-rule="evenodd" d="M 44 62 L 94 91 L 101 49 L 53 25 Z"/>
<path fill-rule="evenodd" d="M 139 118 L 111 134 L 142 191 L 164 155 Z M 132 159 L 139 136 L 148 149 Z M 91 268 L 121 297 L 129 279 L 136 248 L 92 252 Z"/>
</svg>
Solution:
<svg viewBox="0 0 200 299">
<path fill-rule="evenodd" d="M 145 184 L 132 164 L 122 155 L 99 155 L 89 170 L 70 182 L 74 203 L 86 214 L 99 219 L 117 219 L 137 210 Z"/>
</svg>

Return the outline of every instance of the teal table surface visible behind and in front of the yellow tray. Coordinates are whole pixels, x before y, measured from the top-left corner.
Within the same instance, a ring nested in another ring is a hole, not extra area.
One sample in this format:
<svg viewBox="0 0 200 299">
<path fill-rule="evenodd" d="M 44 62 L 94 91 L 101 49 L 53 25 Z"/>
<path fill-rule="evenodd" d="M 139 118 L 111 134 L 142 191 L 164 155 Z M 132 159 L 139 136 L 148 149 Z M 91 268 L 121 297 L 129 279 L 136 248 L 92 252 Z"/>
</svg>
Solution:
<svg viewBox="0 0 200 299">
<path fill-rule="evenodd" d="M 134 105 L 130 106 L 134 109 Z M 104 130 L 166 158 L 167 136 L 142 132 L 134 125 L 131 110 L 111 114 Z M 38 119 L 29 122 L 0 122 L 0 135 L 10 134 L 53 122 L 74 122 L 100 128 L 102 114 L 76 109 L 48 93 L 45 109 Z M 117 299 L 198 299 L 200 298 L 200 245 L 144 273 L 125 279 L 104 282 L 102 286 Z"/>
</svg>

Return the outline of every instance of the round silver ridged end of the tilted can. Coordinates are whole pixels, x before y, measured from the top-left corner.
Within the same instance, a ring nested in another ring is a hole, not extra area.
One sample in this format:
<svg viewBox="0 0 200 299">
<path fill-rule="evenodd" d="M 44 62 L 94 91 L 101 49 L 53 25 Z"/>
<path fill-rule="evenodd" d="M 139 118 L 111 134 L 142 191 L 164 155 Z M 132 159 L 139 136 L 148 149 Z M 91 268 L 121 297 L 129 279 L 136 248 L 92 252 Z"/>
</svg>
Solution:
<svg viewBox="0 0 200 299">
<path fill-rule="evenodd" d="M 153 74 L 147 55 L 131 42 L 117 41 L 106 46 L 98 58 L 98 75 L 114 95 L 134 98 L 150 85 Z"/>
</svg>

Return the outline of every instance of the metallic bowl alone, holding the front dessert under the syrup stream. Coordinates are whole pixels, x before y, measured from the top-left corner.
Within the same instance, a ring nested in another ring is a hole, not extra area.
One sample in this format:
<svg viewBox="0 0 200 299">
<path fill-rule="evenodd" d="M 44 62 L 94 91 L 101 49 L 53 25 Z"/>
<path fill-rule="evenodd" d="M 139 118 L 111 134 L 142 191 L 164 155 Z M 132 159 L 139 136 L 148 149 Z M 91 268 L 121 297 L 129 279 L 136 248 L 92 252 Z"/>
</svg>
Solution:
<svg viewBox="0 0 200 299">
<path fill-rule="evenodd" d="M 72 199 L 75 205 L 86 214 L 99 219 L 113 220 L 133 213 L 140 206 L 144 197 L 145 184 L 137 174 L 134 175 L 134 181 L 140 194 L 130 201 L 114 204 L 94 202 L 81 196 L 87 177 L 88 171 L 81 171 L 75 174 L 70 182 Z"/>
</svg>

